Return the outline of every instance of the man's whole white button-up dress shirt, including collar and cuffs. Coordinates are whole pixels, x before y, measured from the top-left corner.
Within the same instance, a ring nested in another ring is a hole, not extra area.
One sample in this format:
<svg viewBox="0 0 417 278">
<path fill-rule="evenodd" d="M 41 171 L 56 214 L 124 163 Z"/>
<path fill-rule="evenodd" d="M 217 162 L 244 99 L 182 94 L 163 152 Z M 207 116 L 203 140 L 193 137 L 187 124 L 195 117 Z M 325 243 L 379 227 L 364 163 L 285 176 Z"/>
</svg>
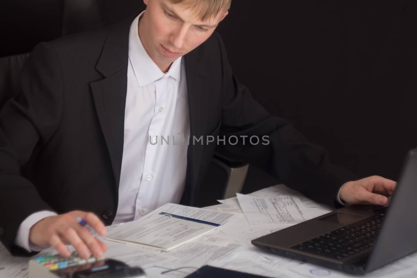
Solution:
<svg viewBox="0 0 417 278">
<path fill-rule="evenodd" d="M 190 119 L 184 60 L 175 60 L 167 73 L 158 68 L 138 35 L 144 12 L 133 20 L 129 33 L 123 158 L 113 224 L 137 220 L 166 203 L 179 203 L 185 186 Z M 343 204 L 339 193 L 337 201 Z M 20 224 L 15 243 L 28 252 L 48 248 L 31 244 L 29 229 L 50 215 L 56 213 L 29 215 Z"/>
</svg>

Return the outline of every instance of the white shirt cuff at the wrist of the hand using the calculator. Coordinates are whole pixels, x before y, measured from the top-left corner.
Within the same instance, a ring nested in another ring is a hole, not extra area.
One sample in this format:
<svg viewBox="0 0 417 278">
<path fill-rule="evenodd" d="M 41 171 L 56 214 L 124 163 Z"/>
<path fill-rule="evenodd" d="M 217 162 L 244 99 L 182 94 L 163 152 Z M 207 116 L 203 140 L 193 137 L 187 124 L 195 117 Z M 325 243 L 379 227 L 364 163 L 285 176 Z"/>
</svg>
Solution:
<svg viewBox="0 0 417 278">
<path fill-rule="evenodd" d="M 56 213 L 43 210 L 29 215 L 19 226 L 18 234 L 16 235 L 15 244 L 24 248 L 29 253 L 32 251 L 42 251 L 48 249 L 50 245 L 35 245 L 29 241 L 29 230 L 39 220 L 45 217 L 57 215 Z"/>
</svg>

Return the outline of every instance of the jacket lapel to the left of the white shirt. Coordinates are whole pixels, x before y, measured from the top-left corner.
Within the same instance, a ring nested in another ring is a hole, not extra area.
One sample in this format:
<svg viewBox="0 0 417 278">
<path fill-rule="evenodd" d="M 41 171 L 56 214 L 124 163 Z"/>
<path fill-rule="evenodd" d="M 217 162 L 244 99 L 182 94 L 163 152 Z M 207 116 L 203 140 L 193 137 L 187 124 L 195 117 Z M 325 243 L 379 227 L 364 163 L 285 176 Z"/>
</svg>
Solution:
<svg viewBox="0 0 417 278">
<path fill-rule="evenodd" d="M 123 156 L 124 118 L 127 90 L 129 27 L 132 19 L 109 31 L 96 69 L 105 77 L 90 83 L 95 109 L 106 140 L 118 193 Z"/>
</svg>

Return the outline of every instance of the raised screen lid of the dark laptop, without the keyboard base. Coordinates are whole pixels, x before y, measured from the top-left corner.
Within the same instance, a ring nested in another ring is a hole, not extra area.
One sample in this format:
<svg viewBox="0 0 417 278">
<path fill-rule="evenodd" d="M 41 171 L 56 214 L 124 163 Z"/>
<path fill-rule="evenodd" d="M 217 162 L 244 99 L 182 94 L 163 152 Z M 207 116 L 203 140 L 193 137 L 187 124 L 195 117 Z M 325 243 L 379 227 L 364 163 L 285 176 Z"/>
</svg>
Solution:
<svg viewBox="0 0 417 278">
<path fill-rule="evenodd" d="M 410 150 L 366 270 L 417 251 L 417 149 Z"/>
</svg>

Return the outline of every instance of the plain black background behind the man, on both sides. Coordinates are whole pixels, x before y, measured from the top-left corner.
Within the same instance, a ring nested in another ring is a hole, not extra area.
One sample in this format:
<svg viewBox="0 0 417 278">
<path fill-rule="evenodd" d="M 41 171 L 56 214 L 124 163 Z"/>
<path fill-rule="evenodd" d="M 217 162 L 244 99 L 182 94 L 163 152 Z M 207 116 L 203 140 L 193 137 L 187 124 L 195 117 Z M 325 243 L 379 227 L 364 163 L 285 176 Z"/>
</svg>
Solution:
<svg viewBox="0 0 417 278">
<path fill-rule="evenodd" d="M 141 0 L 2 3 L 0 56 L 145 7 Z M 74 3 L 99 13 L 92 18 Z M 416 26 L 415 0 L 233 0 L 218 31 L 235 75 L 266 110 L 327 148 L 334 163 L 396 180 L 407 150 L 417 147 Z"/>
</svg>

